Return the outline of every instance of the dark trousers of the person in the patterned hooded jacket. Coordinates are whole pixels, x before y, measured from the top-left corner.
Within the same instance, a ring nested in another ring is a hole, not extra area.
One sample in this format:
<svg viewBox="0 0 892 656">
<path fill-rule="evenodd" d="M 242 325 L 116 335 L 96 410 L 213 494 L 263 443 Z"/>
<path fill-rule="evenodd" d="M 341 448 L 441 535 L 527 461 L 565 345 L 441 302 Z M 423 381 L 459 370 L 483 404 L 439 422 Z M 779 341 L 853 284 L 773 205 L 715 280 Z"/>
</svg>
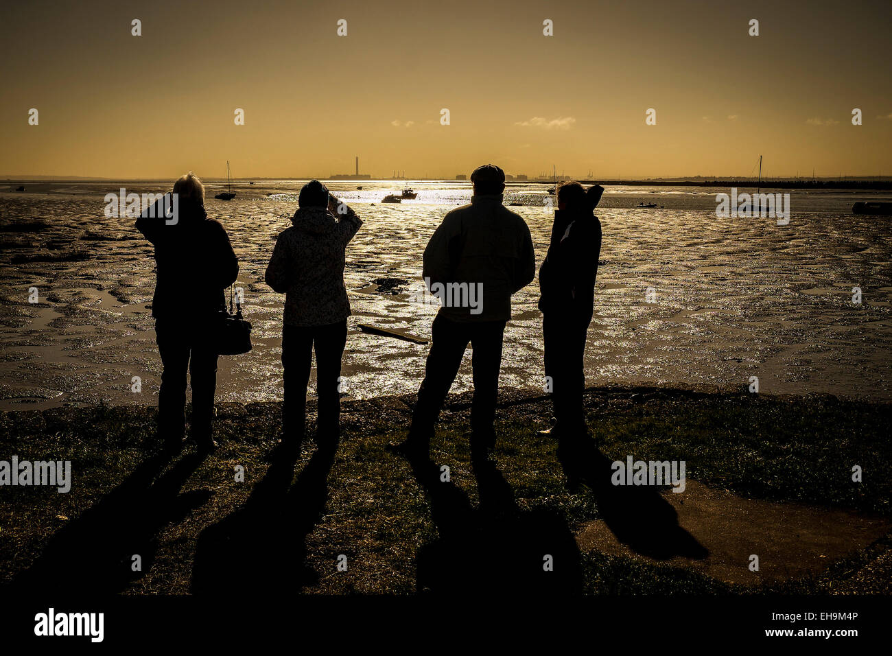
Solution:
<svg viewBox="0 0 892 656">
<path fill-rule="evenodd" d="M 347 320 L 326 326 L 282 328 L 282 369 L 285 401 L 282 403 L 283 438 L 300 441 L 306 430 L 307 386 L 313 346 L 316 347 L 318 436 L 336 437 L 341 419 L 341 358 L 347 343 Z"/>
</svg>

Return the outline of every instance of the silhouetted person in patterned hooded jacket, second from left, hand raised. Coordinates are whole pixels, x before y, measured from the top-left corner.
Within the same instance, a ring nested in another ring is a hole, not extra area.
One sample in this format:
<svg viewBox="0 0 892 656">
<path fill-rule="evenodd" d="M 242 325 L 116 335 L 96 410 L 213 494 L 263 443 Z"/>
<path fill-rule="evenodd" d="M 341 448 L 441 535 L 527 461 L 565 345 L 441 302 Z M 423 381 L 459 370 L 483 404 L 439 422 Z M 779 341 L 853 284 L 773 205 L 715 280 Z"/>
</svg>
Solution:
<svg viewBox="0 0 892 656">
<path fill-rule="evenodd" d="M 285 293 L 282 327 L 283 446 L 297 448 L 306 429 L 307 386 L 316 346 L 317 444 L 336 440 L 341 413 L 341 358 L 351 315 L 343 285 L 344 250 L 362 220 L 318 180 L 298 196 L 293 226 L 282 232 L 266 280 Z M 343 213 L 340 213 L 343 212 Z"/>
</svg>

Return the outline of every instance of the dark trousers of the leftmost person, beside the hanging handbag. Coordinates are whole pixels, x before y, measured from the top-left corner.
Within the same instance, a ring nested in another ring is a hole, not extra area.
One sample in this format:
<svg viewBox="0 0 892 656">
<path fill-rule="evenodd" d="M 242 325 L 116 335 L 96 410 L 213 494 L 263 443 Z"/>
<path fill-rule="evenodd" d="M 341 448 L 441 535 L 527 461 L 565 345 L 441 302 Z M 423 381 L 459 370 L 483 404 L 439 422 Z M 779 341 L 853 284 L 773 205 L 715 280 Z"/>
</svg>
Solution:
<svg viewBox="0 0 892 656">
<path fill-rule="evenodd" d="M 164 367 L 158 392 L 158 424 L 166 439 L 176 441 L 186 435 L 186 370 L 192 383 L 192 435 L 199 440 L 211 438 L 217 353 L 208 348 L 209 335 L 200 320 L 155 320 Z"/>
</svg>

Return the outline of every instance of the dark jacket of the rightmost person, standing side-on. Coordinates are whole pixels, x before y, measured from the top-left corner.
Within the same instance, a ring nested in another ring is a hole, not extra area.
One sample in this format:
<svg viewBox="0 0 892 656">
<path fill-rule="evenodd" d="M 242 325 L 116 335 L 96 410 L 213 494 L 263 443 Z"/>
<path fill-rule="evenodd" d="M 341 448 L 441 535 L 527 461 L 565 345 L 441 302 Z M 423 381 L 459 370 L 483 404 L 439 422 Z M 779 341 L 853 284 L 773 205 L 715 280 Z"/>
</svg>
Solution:
<svg viewBox="0 0 892 656">
<path fill-rule="evenodd" d="M 601 222 L 591 210 L 557 210 L 539 270 L 539 309 L 591 321 L 601 252 Z"/>
</svg>

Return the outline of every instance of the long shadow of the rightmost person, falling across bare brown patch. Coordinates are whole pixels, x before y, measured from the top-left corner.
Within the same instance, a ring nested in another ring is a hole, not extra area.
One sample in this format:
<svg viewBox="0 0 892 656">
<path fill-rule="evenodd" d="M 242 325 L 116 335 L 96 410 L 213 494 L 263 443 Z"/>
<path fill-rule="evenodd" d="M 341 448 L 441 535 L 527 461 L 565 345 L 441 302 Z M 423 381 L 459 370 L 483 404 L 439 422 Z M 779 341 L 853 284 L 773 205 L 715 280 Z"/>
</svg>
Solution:
<svg viewBox="0 0 892 656">
<path fill-rule="evenodd" d="M 657 560 L 700 560 L 709 551 L 679 526 L 678 513 L 655 486 L 614 486 L 613 461 L 593 444 L 558 447 L 558 461 L 571 486 L 582 482 L 598 503 L 601 519 L 632 551 Z"/>
</svg>

